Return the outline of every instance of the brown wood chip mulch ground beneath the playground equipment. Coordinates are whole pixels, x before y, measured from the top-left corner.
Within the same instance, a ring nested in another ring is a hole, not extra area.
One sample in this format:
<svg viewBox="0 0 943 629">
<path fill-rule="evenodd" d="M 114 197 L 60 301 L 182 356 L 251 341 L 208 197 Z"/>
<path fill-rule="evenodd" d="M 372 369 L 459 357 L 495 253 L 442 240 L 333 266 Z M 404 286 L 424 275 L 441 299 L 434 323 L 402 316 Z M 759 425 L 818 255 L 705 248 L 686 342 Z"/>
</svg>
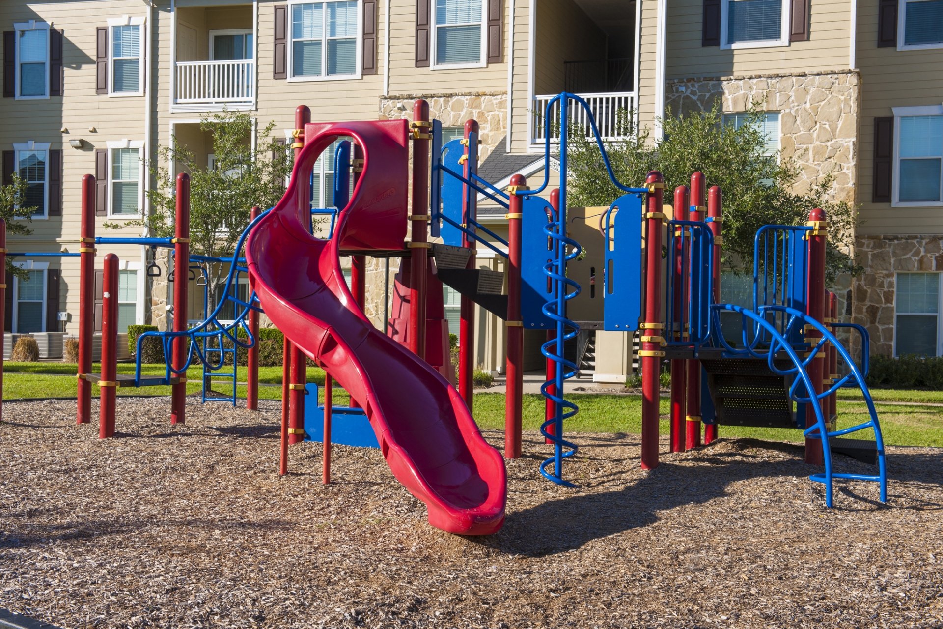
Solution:
<svg viewBox="0 0 943 629">
<path fill-rule="evenodd" d="M 74 402 L 6 404 L 0 607 L 70 629 L 943 626 L 943 450 L 889 448 L 887 505 L 855 482 L 827 509 L 793 445 L 663 443 L 643 472 L 637 436 L 573 435 L 571 489 L 527 434 L 504 529 L 463 538 L 376 450 L 336 447 L 324 487 L 321 445 L 293 446 L 279 478 L 262 405 L 188 400 L 171 426 L 166 398 L 119 399 L 99 440 Z"/>
</svg>

